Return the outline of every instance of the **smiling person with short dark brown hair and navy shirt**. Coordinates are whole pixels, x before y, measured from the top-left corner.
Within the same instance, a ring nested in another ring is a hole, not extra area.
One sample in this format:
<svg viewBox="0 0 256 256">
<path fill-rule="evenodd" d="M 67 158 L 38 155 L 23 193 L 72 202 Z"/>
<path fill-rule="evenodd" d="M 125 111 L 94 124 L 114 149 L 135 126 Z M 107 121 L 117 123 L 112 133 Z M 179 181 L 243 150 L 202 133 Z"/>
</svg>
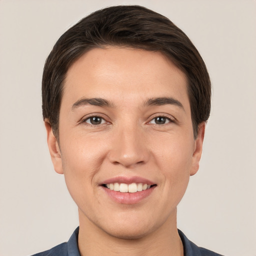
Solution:
<svg viewBox="0 0 256 256">
<path fill-rule="evenodd" d="M 36 255 L 219 255 L 176 226 L 210 91 L 191 41 L 149 9 L 112 6 L 68 29 L 45 62 L 42 109 L 79 228 Z"/>
</svg>

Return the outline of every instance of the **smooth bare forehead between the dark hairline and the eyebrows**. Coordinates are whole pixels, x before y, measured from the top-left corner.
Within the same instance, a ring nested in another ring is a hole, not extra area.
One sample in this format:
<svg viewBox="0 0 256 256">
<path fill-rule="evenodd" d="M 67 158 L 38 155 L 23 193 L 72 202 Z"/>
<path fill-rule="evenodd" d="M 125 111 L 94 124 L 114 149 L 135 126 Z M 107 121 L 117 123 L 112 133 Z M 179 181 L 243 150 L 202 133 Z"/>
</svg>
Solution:
<svg viewBox="0 0 256 256">
<path fill-rule="evenodd" d="M 127 47 L 93 48 L 68 69 L 62 102 L 79 97 L 145 100 L 175 96 L 188 101 L 185 74 L 160 52 Z M 169 94 L 169 95 L 168 95 Z M 71 101 L 69 103 L 71 103 Z"/>
</svg>

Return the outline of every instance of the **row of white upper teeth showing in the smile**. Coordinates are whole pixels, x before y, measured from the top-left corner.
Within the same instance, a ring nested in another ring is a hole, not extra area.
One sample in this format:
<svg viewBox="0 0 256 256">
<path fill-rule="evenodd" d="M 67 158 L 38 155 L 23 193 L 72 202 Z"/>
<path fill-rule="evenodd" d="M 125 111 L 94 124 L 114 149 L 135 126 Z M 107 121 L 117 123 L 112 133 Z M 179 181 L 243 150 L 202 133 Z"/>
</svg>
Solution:
<svg viewBox="0 0 256 256">
<path fill-rule="evenodd" d="M 108 183 L 105 184 L 107 188 L 114 191 L 120 191 L 120 192 L 129 192 L 129 193 L 135 193 L 137 191 L 142 191 L 150 188 L 151 185 L 143 184 L 143 183 L 131 183 L 131 184 L 125 184 L 125 183 Z"/>
</svg>

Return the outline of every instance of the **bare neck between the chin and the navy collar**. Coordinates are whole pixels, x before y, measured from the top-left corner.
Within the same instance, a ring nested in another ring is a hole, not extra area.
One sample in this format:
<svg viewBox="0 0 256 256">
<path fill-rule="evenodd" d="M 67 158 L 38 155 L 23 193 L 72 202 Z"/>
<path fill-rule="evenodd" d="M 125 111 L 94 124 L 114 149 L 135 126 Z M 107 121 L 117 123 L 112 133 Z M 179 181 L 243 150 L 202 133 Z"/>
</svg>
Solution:
<svg viewBox="0 0 256 256">
<path fill-rule="evenodd" d="M 162 226 L 140 238 L 124 239 L 105 232 L 79 212 L 80 254 L 81 256 L 183 255 L 183 246 L 176 227 L 176 214 L 174 215 L 174 217 L 170 216 Z"/>
</svg>

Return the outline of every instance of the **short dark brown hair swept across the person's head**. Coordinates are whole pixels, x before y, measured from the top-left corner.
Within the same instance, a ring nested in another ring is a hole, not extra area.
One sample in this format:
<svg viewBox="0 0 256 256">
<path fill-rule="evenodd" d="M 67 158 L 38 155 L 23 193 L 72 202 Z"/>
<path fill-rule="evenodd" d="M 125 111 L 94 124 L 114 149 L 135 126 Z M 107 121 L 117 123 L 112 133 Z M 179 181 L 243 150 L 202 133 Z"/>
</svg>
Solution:
<svg viewBox="0 0 256 256">
<path fill-rule="evenodd" d="M 206 66 L 189 38 L 165 16 L 138 5 L 97 10 L 63 33 L 46 59 L 42 114 L 58 137 L 63 83 L 70 65 L 91 48 L 128 46 L 160 51 L 186 75 L 194 137 L 210 113 L 211 85 Z"/>
</svg>

